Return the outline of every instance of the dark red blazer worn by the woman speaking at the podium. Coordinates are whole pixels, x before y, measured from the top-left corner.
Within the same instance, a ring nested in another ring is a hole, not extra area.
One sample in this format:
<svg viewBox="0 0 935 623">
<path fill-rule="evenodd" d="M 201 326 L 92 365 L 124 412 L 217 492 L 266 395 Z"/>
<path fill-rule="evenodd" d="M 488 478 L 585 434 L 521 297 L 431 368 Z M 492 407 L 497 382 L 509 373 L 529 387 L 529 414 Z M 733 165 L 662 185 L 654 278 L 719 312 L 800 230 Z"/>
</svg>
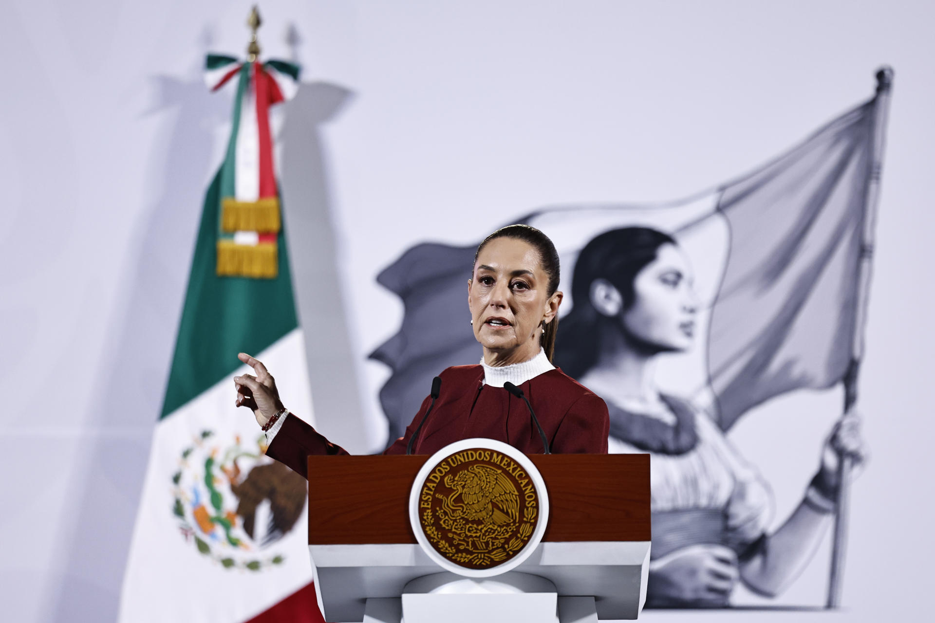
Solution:
<svg viewBox="0 0 935 623">
<path fill-rule="evenodd" d="M 433 454 L 444 446 L 470 437 L 485 437 L 510 444 L 525 454 L 543 452 L 539 431 L 529 409 L 503 388 L 484 385 L 481 365 L 459 365 L 441 373 L 441 391 L 435 407 L 413 445 L 414 454 Z M 536 410 L 552 451 L 560 453 L 607 453 L 611 419 L 607 404 L 590 389 L 564 374 L 550 370 L 521 386 Z M 431 398 L 426 397 L 412 418 L 406 434 L 383 454 L 404 454 L 412 433 L 422 421 Z M 287 417 L 273 437 L 266 455 L 306 474 L 306 457 L 349 454 L 332 444 L 309 424 Z"/>
</svg>

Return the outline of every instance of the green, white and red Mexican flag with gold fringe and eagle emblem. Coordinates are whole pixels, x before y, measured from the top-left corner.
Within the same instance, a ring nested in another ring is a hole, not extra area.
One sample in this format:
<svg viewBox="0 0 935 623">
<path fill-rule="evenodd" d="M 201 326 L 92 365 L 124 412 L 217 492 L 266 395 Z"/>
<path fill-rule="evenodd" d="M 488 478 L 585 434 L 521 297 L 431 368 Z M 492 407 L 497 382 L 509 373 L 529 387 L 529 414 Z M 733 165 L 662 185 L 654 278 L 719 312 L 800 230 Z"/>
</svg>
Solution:
<svg viewBox="0 0 935 623">
<path fill-rule="evenodd" d="M 269 124 L 269 107 L 295 93 L 298 71 L 208 57 L 210 88 L 236 84 L 233 128 L 205 196 L 121 621 L 322 620 L 305 479 L 266 458 L 266 437 L 235 406 L 231 380 L 247 372 L 238 352 L 257 356 L 276 373 L 283 402 L 311 422 Z"/>
</svg>

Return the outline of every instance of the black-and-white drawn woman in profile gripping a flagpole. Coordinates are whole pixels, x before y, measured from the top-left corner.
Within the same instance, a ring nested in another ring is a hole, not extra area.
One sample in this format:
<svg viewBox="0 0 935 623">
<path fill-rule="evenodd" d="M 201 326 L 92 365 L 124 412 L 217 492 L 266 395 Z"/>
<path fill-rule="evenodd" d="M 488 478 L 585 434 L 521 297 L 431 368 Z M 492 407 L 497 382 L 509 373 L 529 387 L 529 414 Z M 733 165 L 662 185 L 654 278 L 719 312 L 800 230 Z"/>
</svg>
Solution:
<svg viewBox="0 0 935 623">
<path fill-rule="evenodd" d="M 654 384 L 656 357 L 692 346 L 698 299 L 676 241 L 645 227 L 582 250 L 555 361 L 608 404 L 611 452 L 649 452 L 653 549 L 647 605 L 726 605 L 736 582 L 773 596 L 813 556 L 831 523 L 842 454 L 863 459 L 847 414 L 824 445 L 802 502 L 771 534 L 772 496 L 711 414 Z"/>
</svg>

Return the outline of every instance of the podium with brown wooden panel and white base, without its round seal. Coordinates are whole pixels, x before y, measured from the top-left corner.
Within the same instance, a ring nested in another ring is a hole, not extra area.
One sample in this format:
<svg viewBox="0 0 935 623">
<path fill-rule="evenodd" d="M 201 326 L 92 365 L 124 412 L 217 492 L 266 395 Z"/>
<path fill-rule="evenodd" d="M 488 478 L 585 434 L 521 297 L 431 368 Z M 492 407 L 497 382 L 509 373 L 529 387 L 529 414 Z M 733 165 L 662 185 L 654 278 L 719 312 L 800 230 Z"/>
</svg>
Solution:
<svg viewBox="0 0 935 623">
<path fill-rule="evenodd" d="M 550 515 L 538 547 L 514 571 L 554 585 L 553 621 L 639 616 L 651 539 L 649 455 L 528 458 L 545 482 Z M 426 460 L 309 457 L 309 555 L 325 620 L 398 622 L 407 585 L 444 571 L 410 526 L 410 489 Z"/>
</svg>

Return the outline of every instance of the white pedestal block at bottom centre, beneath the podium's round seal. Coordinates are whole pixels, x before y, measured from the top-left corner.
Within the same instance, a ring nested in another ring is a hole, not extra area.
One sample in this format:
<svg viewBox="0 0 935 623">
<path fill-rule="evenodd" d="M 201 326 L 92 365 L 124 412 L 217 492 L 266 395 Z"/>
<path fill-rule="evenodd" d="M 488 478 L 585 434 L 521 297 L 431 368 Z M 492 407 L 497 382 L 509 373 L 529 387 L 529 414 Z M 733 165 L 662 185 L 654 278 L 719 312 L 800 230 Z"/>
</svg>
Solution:
<svg viewBox="0 0 935 623">
<path fill-rule="evenodd" d="M 364 623 L 597 623 L 594 597 L 558 597 L 529 573 L 472 579 L 432 573 L 406 585 L 402 598 L 368 599 Z"/>
</svg>

